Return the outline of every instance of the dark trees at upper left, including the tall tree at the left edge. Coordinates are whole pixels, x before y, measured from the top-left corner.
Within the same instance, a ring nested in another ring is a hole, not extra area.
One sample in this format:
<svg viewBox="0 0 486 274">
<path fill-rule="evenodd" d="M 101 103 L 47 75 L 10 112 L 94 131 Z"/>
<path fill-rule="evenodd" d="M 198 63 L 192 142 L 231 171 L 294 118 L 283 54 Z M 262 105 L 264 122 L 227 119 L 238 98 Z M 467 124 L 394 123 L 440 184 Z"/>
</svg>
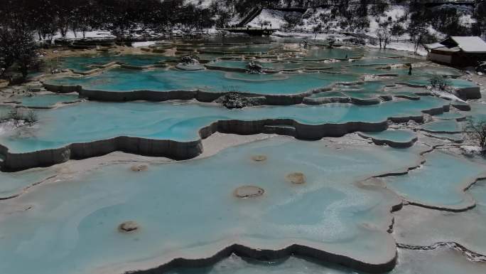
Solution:
<svg viewBox="0 0 486 274">
<path fill-rule="evenodd" d="M 0 77 L 14 67 L 25 78 L 38 65 L 36 40 L 51 41 L 57 33 L 84 37 L 87 31 L 104 29 L 122 37 L 134 30 L 224 26 L 232 18 L 228 10 L 184 0 L 1 0 Z"/>
</svg>

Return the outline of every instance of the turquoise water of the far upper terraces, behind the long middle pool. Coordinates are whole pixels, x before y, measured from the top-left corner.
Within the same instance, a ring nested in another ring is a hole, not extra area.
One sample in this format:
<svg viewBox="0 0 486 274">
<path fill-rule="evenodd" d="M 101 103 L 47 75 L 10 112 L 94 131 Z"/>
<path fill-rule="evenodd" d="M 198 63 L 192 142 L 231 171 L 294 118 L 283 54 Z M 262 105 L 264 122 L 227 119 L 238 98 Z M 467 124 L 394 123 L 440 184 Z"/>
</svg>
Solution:
<svg viewBox="0 0 486 274">
<path fill-rule="evenodd" d="M 279 44 L 264 44 L 252 46 L 208 46 L 208 49 L 218 51 L 262 51 L 271 48 L 279 48 Z M 184 46 L 190 47 L 190 46 Z M 203 54 L 204 55 L 204 54 Z M 345 56 L 365 56 L 354 62 L 341 61 L 337 63 L 315 62 L 313 60 L 322 60 L 325 58 L 345 58 Z M 92 90 L 109 90 L 109 91 L 129 91 L 129 90 L 206 90 L 206 91 L 241 91 L 248 93 L 257 93 L 264 95 L 286 95 L 293 93 L 303 93 L 315 88 L 323 88 L 336 82 L 352 82 L 360 80 L 363 74 L 383 74 L 396 73 L 398 78 L 384 78 L 383 85 L 396 82 L 414 83 L 419 85 L 429 85 L 430 78 L 433 75 L 455 75 L 457 70 L 448 68 L 436 68 L 431 66 L 416 68 L 414 75 L 407 75 L 406 68 L 396 69 L 378 69 L 397 63 L 416 63 L 419 60 L 408 57 L 387 58 L 387 56 L 398 56 L 388 51 L 366 51 L 365 49 L 355 48 L 312 48 L 306 51 L 305 58 L 284 58 L 279 62 L 261 62 L 264 68 L 273 70 L 286 70 L 296 68 L 332 68 L 329 71 L 340 74 L 328 73 L 298 73 L 291 75 L 248 75 L 247 73 L 224 73 L 221 71 L 178 71 L 178 70 L 124 70 L 112 69 L 104 71 L 98 75 L 91 75 L 80 78 L 61 78 L 50 80 L 48 83 L 58 85 L 82 85 L 86 89 Z M 205 56 L 213 60 L 218 55 Z M 288 56 L 287 56 L 288 57 Z M 169 57 L 157 55 L 126 55 L 126 56 L 78 56 L 68 57 L 64 65 L 75 70 L 88 70 L 92 64 L 109 63 L 118 61 L 129 65 L 149 65 L 166 60 Z M 288 62 L 293 60 L 293 62 Z M 215 63 L 227 68 L 246 68 L 247 60 L 219 60 Z M 455 88 L 475 87 L 474 83 L 460 79 L 449 79 L 451 85 Z M 370 91 L 369 95 L 349 91 L 349 96 L 355 98 L 373 98 L 376 90 Z M 378 88 L 378 87 L 375 87 Z M 382 89 L 382 87 L 379 87 Z"/>
</svg>

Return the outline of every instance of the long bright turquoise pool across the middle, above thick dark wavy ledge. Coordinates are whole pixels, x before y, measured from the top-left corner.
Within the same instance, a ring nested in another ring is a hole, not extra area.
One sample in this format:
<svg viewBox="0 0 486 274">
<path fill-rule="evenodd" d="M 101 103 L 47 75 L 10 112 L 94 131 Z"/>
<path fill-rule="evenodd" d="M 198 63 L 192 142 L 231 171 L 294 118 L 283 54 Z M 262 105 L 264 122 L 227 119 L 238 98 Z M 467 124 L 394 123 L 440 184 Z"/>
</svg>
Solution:
<svg viewBox="0 0 486 274">
<path fill-rule="evenodd" d="M 268 106 L 227 110 L 223 107 L 170 102 L 84 102 L 53 110 L 37 110 L 38 124 L 0 136 L 10 152 L 32 152 L 117 136 L 190 141 L 198 130 L 217 120 L 293 119 L 302 124 L 383 122 L 389 117 L 421 115 L 444 100 L 424 97 L 379 105 L 328 104 Z"/>
</svg>

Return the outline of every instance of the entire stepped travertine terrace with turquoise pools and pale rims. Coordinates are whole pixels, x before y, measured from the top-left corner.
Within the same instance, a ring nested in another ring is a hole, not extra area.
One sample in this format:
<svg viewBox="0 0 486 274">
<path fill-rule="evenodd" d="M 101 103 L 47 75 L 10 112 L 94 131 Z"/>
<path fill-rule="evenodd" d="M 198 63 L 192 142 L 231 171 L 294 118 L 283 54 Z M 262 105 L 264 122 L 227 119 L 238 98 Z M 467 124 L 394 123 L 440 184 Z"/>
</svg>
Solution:
<svg viewBox="0 0 486 274">
<path fill-rule="evenodd" d="M 486 161 L 464 132 L 486 119 L 479 85 L 299 42 L 64 57 L 46 90 L 5 98 L 0 273 L 485 273 Z"/>
</svg>

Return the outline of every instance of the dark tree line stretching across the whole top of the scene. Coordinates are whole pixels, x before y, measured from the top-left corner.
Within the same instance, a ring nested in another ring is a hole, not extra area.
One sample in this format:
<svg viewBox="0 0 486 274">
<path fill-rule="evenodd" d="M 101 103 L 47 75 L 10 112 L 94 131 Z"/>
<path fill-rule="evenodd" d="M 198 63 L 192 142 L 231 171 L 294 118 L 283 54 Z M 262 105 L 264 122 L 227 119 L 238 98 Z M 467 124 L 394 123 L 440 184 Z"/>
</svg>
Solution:
<svg viewBox="0 0 486 274">
<path fill-rule="evenodd" d="M 447 35 L 480 35 L 486 31 L 486 1 L 478 0 L 473 11 L 477 23 L 462 26 L 459 9 L 446 6 L 439 11 L 428 9 L 423 0 L 220 0 L 210 6 L 188 4 L 184 0 L 0 0 L 0 76 L 6 68 L 17 64 L 24 75 L 35 65 L 36 43 L 50 41 L 56 33 L 72 32 L 85 36 L 87 31 L 106 30 L 123 38 L 131 31 L 166 31 L 172 28 L 202 29 L 223 27 L 235 18 L 243 17 L 255 6 L 318 6 L 332 4 L 330 14 L 321 14 L 319 28 L 337 16 L 344 18 L 342 28 L 360 31 L 369 27 L 368 16 L 382 15 L 390 4 L 409 6 L 409 12 L 399 21 L 380 22 L 386 36 L 409 33 L 417 45 L 428 39 L 428 26 Z M 197 3 L 197 2 L 196 2 Z M 308 13 L 311 14 L 311 13 Z M 304 14 L 304 17 L 308 14 Z M 404 28 L 404 22 L 410 24 Z M 301 18 L 289 18 L 298 26 Z"/>
</svg>

